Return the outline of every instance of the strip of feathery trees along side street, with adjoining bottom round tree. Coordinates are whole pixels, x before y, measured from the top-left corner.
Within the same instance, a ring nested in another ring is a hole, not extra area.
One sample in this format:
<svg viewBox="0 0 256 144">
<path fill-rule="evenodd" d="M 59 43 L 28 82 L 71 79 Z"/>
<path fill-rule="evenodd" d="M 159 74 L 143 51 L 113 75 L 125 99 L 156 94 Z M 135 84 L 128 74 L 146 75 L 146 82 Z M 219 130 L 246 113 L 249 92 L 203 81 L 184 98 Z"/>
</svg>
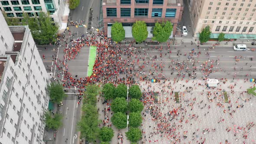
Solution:
<svg viewBox="0 0 256 144">
<path fill-rule="evenodd" d="M 79 131 L 81 131 L 81 137 L 84 137 L 87 141 L 93 142 L 99 138 L 102 144 L 108 144 L 114 136 L 114 131 L 112 128 L 103 127 L 100 129 L 98 127 L 101 123 L 98 119 L 98 109 L 96 106 L 98 92 L 98 85 L 86 86 L 82 106 L 82 117 L 77 123 L 77 127 Z"/>
</svg>

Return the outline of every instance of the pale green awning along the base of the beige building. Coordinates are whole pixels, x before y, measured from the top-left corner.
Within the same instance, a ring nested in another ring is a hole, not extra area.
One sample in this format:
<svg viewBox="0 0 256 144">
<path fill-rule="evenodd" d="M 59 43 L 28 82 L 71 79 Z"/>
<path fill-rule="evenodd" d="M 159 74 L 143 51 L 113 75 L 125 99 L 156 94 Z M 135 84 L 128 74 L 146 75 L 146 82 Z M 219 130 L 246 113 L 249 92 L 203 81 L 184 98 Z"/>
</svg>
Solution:
<svg viewBox="0 0 256 144">
<path fill-rule="evenodd" d="M 220 33 L 211 33 L 210 38 L 217 39 Z M 199 37 L 199 33 L 197 33 Z M 256 39 L 256 35 L 225 33 L 225 39 Z"/>
</svg>

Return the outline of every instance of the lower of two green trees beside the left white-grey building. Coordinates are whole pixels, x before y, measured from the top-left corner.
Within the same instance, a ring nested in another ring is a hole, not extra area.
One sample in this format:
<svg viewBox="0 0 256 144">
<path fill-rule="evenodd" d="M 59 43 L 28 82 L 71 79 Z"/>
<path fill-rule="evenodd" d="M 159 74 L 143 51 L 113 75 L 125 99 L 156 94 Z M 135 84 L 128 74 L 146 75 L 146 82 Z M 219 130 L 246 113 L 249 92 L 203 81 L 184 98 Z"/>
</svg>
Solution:
<svg viewBox="0 0 256 144">
<path fill-rule="evenodd" d="M 47 111 L 44 115 L 46 128 L 57 130 L 62 126 L 62 115 L 53 115 L 50 111 Z"/>
</svg>

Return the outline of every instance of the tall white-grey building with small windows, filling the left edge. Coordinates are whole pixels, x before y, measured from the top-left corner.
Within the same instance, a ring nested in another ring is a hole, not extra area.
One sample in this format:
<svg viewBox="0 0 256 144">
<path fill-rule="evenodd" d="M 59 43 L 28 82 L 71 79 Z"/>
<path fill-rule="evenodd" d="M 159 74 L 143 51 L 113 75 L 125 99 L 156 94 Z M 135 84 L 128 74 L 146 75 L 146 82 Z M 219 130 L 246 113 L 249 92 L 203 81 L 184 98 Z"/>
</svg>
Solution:
<svg viewBox="0 0 256 144">
<path fill-rule="evenodd" d="M 49 75 L 28 26 L 0 21 L 0 144 L 44 144 Z"/>
</svg>

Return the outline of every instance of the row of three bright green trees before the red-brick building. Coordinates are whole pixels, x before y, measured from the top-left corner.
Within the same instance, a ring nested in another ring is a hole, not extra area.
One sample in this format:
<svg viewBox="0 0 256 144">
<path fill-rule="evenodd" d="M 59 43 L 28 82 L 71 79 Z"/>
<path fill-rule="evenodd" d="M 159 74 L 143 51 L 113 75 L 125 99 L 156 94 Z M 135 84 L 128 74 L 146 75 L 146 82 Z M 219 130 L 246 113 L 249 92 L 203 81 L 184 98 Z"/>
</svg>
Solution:
<svg viewBox="0 0 256 144">
<path fill-rule="evenodd" d="M 166 42 L 169 39 L 173 25 L 170 21 L 155 23 L 152 40 Z M 138 43 L 143 42 L 148 37 L 147 25 L 144 21 L 136 21 L 132 26 L 132 36 Z M 125 29 L 122 23 L 115 22 L 111 27 L 111 37 L 115 42 L 121 42 L 125 39 Z"/>
</svg>

